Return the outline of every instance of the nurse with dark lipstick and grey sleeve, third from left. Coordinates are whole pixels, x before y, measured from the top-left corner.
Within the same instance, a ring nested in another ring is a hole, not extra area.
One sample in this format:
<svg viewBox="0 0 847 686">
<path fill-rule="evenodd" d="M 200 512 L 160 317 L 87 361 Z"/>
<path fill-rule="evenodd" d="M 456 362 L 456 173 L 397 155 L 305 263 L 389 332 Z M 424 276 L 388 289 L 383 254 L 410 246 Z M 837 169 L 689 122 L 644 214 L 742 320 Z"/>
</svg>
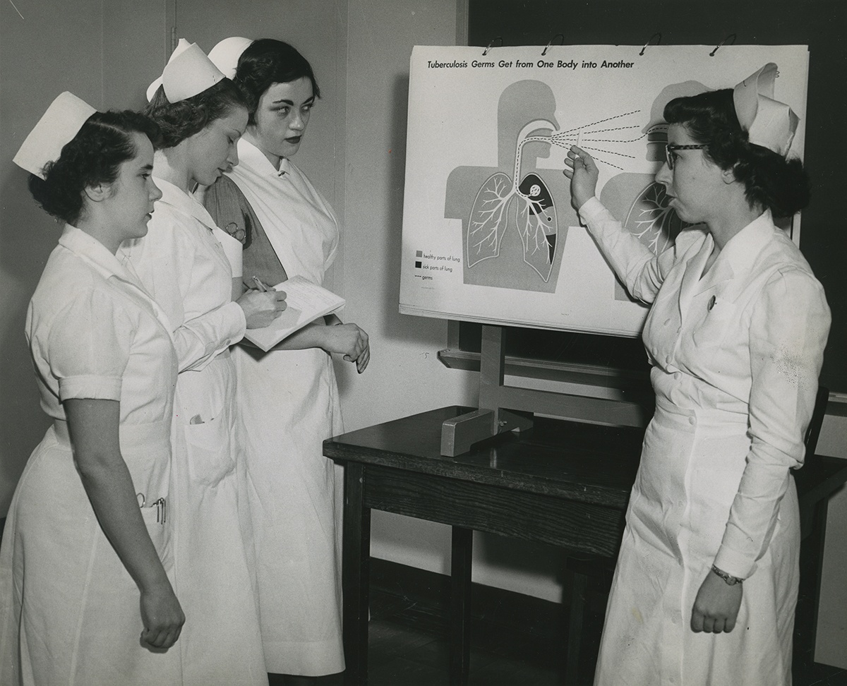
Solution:
<svg viewBox="0 0 847 686">
<path fill-rule="evenodd" d="M 224 71 L 234 71 L 237 61 L 235 79 L 254 102 L 239 142 L 241 163 L 207 191 L 206 206 L 243 242 L 246 285 L 254 275 L 268 284 L 300 275 L 321 285 L 335 258 L 338 221 L 290 159 L 318 85 L 307 60 L 287 43 L 263 39 L 244 49 L 246 42 L 228 39 L 228 49 L 210 53 Z M 267 354 L 246 346 L 235 352 L 265 660 L 268 672 L 290 675 L 283 683 L 344 669 L 343 480 L 322 451 L 324 439 L 343 432 L 330 353 L 362 372 L 368 335 L 330 315 Z"/>
</svg>

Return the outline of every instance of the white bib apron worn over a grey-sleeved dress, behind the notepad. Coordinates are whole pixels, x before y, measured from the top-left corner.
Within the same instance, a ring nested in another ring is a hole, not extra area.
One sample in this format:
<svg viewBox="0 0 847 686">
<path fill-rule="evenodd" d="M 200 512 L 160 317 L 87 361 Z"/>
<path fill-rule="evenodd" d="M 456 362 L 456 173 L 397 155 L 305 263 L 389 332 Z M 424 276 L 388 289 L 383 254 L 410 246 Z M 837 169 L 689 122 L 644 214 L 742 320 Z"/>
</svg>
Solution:
<svg viewBox="0 0 847 686">
<path fill-rule="evenodd" d="M 229 176 L 262 224 L 269 257 L 289 278 L 321 285 L 338 244 L 329 203 L 289 160 L 278 172 L 243 138 L 238 155 Z M 254 259 L 268 262 L 247 249 L 246 277 Z M 343 479 L 322 446 L 343 433 L 332 359 L 318 348 L 263 354 L 243 346 L 235 357 L 268 672 L 340 672 Z"/>
</svg>

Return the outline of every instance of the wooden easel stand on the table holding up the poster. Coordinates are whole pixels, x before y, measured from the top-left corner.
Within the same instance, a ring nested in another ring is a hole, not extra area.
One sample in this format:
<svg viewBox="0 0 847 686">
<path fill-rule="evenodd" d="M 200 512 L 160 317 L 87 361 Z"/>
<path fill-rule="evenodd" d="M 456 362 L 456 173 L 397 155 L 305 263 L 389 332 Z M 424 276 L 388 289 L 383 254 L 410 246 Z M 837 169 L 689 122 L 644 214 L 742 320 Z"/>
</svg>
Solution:
<svg viewBox="0 0 847 686">
<path fill-rule="evenodd" d="M 638 403 L 507 386 L 503 383 L 505 367 L 503 328 L 483 324 L 479 409 L 442 423 L 441 455 L 455 457 L 468 452 L 480 440 L 507 431 L 532 429 L 529 415 L 534 412 L 621 426 L 639 426 L 645 421 Z"/>
</svg>

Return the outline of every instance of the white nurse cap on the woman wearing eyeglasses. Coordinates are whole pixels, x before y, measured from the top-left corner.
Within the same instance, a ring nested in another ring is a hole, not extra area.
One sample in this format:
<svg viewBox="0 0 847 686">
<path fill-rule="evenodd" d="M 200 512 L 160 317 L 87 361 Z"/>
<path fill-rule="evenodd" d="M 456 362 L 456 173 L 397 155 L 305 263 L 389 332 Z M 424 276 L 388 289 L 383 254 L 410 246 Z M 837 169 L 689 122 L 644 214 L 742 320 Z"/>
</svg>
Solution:
<svg viewBox="0 0 847 686">
<path fill-rule="evenodd" d="M 800 117 L 784 102 L 774 99 L 776 78 L 777 65 L 768 62 L 735 86 L 733 101 L 739 124 L 747 131 L 750 142 L 785 157 Z"/>
</svg>

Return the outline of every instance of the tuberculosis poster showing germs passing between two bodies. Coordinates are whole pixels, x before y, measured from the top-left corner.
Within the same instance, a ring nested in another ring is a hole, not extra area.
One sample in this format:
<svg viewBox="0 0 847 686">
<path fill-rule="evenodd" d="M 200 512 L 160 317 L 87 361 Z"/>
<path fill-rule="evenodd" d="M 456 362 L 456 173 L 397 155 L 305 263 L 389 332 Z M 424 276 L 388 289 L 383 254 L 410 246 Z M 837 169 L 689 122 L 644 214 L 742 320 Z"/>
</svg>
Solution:
<svg viewBox="0 0 847 686">
<path fill-rule="evenodd" d="M 805 46 L 415 47 L 400 312 L 639 335 L 647 308 L 571 207 L 568 148 L 590 152 L 601 202 L 662 252 L 689 228 L 654 180 L 665 104 L 774 62 L 802 158 L 808 60 Z"/>
</svg>

